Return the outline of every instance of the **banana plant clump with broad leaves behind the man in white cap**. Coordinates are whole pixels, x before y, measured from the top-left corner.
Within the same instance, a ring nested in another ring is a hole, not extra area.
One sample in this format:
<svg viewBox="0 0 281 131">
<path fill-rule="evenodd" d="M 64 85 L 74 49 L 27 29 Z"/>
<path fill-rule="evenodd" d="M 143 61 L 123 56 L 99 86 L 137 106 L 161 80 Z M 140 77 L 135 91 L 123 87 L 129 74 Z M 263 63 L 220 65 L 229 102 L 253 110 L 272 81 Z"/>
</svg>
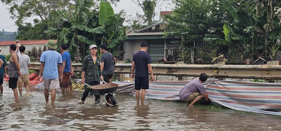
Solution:
<svg viewBox="0 0 281 131">
<path fill-rule="evenodd" d="M 69 44 L 71 56 L 76 56 L 79 49 L 80 56 L 84 58 L 89 52 L 89 46 L 95 44 L 107 44 L 113 55 L 118 56 L 121 49 L 120 43 L 126 39 L 126 27 L 122 23 L 123 11 L 118 14 L 113 13 L 109 2 L 101 2 L 100 11 L 94 9 L 91 0 L 76 1 L 75 11 L 70 18 L 65 12 L 57 11 L 56 23 L 59 28 L 50 27 L 45 31 L 48 35 L 57 35 L 58 49 L 61 43 Z"/>
</svg>

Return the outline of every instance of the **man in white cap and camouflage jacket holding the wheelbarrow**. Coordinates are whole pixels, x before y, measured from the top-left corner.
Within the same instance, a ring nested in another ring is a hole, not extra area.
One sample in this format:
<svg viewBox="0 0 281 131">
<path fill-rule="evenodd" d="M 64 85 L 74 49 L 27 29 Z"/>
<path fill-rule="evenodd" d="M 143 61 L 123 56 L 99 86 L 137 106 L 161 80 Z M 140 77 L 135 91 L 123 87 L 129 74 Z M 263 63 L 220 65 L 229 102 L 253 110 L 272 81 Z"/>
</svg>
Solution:
<svg viewBox="0 0 281 131">
<path fill-rule="evenodd" d="M 101 73 L 101 61 L 96 56 L 97 52 L 97 46 L 91 45 L 90 46 L 90 52 L 91 54 L 86 56 L 82 62 L 82 81 L 81 84 L 84 84 L 84 82 L 88 85 L 100 85 L 100 80 L 103 79 L 102 73 Z M 84 78 L 85 77 L 85 78 Z M 87 88 L 86 85 L 84 86 L 85 90 L 83 92 L 83 95 L 81 97 L 81 100 L 79 100 L 78 104 L 83 104 L 86 97 L 92 90 Z M 96 104 L 100 103 L 101 96 L 95 95 Z"/>
</svg>

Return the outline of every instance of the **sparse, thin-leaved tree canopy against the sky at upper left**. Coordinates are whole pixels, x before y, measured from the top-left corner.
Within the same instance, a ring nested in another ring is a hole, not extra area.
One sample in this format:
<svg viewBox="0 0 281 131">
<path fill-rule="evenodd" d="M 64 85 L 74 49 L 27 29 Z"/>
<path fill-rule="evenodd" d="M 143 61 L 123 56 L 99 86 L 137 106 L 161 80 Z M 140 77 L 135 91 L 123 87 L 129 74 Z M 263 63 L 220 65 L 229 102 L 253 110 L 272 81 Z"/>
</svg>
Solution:
<svg viewBox="0 0 281 131">
<path fill-rule="evenodd" d="M 54 11 L 74 12 L 74 3 L 79 0 L 1 0 L 8 7 L 12 19 L 16 19 L 16 24 L 21 24 L 25 19 L 38 16 L 42 21 L 52 20 Z M 112 3 L 120 0 L 110 0 Z M 100 0 L 93 0 L 99 3 Z M 98 4 L 97 4 L 98 5 Z"/>
</svg>

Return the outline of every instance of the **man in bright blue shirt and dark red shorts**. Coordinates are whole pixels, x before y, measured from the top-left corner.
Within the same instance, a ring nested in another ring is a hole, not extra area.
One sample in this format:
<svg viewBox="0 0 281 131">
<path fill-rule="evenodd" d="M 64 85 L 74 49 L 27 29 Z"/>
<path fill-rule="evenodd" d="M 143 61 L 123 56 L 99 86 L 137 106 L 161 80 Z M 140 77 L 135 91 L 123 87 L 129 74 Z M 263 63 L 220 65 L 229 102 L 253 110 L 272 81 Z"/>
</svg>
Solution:
<svg viewBox="0 0 281 131">
<path fill-rule="evenodd" d="M 63 70 L 63 78 L 62 83 L 60 84 L 62 95 L 64 95 L 64 91 L 66 90 L 67 95 L 70 93 L 72 94 L 72 82 L 71 82 L 71 75 L 73 75 L 72 64 L 71 64 L 71 56 L 69 52 L 67 52 L 67 44 L 61 44 L 61 54 L 62 54 L 62 70 Z"/>
</svg>

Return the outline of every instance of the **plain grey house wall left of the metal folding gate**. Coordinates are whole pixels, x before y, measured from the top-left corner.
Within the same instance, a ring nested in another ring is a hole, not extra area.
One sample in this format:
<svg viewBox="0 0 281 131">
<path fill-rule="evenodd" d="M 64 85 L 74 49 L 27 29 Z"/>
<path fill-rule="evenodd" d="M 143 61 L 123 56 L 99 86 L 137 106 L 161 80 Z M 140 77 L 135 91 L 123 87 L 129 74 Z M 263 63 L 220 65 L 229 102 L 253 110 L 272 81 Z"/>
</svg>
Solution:
<svg viewBox="0 0 281 131">
<path fill-rule="evenodd" d="M 141 43 L 146 42 L 146 40 L 125 40 L 124 41 L 124 60 L 133 60 L 134 53 L 140 51 Z"/>
</svg>

